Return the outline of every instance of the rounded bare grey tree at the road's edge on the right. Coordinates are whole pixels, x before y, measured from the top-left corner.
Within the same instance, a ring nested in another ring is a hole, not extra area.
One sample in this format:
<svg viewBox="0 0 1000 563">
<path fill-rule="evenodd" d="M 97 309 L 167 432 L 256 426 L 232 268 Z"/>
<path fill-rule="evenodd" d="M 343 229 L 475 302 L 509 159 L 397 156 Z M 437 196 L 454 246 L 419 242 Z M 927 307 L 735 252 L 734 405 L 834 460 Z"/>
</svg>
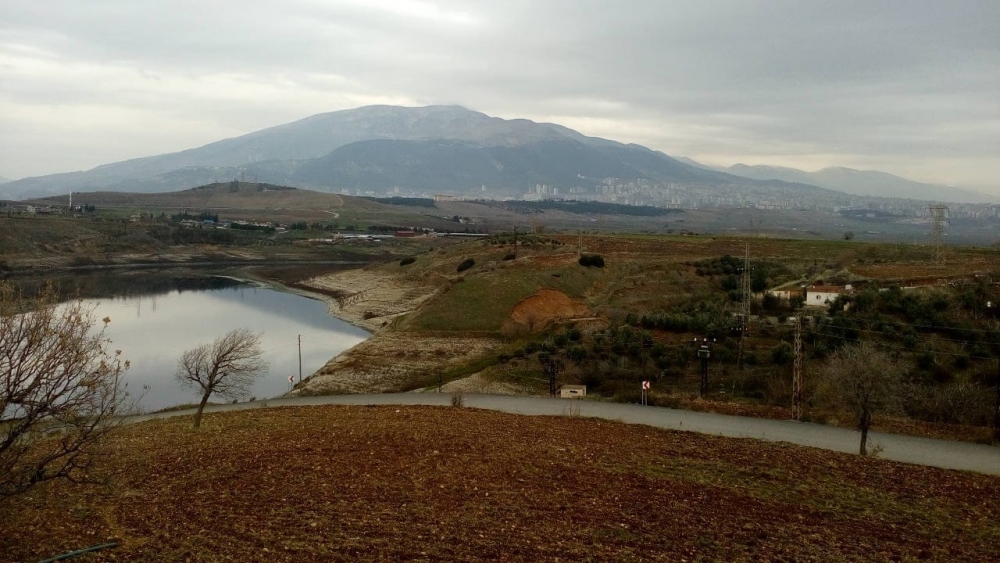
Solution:
<svg viewBox="0 0 1000 563">
<path fill-rule="evenodd" d="M 868 454 L 872 415 L 895 410 L 902 402 L 903 368 L 871 342 L 845 346 L 824 368 L 829 389 L 854 411 L 861 430 L 861 455 Z"/>
</svg>

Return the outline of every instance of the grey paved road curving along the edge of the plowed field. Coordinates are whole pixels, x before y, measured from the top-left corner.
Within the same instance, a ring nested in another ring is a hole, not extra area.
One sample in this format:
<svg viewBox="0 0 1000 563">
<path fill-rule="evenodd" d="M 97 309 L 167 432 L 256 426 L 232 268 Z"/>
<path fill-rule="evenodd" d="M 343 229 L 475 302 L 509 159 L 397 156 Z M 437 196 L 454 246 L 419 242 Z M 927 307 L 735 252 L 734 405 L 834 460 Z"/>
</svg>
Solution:
<svg viewBox="0 0 1000 563">
<path fill-rule="evenodd" d="M 206 412 L 224 412 L 261 407 L 302 405 L 450 405 L 448 393 L 385 393 L 379 395 L 328 395 L 322 397 L 293 397 L 270 399 L 254 403 L 217 405 Z M 538 397 L 512 397 L 506 395 L 465 395 L 469 407 L 526 415 L 579 415 L 584 417 L 618 420 L 629 424 L 648 424 L 658 428 L 686 430 L 731 438 L 756 438 L 772 442 L 789 442 L 837 452 L 856 453 L 860 434 L 847 428 L 768 420 L 744 416 L 701 413 L 662 407 L 644 407 L 621 403 L 572 401 Z M 572 412 L 571 412 L 572 409 Z M 134 421 L 170 416 L 190 415 L 194 410 L 173 411 L 133 417 Z M 884 459 L 976 471 L 1000 475 L 1000 448 L 965 442 L 950 442 L 915 436 L 872 432 L 869 441 L 882 446 Z"/>
</svg>

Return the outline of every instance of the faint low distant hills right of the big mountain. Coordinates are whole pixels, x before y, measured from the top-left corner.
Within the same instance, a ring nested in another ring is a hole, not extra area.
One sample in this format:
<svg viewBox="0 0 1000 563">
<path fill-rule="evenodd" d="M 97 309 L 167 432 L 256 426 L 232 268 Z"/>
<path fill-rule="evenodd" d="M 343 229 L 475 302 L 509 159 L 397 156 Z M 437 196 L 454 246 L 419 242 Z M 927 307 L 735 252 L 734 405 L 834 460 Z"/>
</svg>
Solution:
<svg viewBox="0 0 1000 563">
<path fill-rule="evenodd" d="M 876 170 L 831 167 L 805 172 L 781 166 L 748 166 L 735 164 L 719 170 L 755 180 L 782 180 L 812 184 L 830 190 L 876 197 L 901 197 L 956 203 L 996 203 L 998 198 L 948 186 L 924 184 Z"/>
</svg>

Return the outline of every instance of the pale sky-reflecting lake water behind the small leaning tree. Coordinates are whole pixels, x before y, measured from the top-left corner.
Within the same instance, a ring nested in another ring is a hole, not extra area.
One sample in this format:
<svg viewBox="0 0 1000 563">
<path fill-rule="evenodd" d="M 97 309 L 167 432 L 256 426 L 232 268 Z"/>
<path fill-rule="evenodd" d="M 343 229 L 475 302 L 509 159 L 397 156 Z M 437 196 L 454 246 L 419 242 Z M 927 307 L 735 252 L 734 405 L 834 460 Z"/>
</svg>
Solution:
<svg viewBox="0 0 1000 563">
<path fill-rule="evenodd" d="M 253 388 L 258 399 L 281 395 L 289 389 L 289 376 L 298 379 L 299 335 L 303 377 L 369 336 L 331 317 L 321 301 L 251 285 L 86 299 L 84 304 L 95 306 L 96 319 L 111 317 L 106 334 L 111 348 L 131 362 L 125 376 L 129 391 L 149 386 L 139 403 L 146 411 L 199 400 L 198 393 L 174 380 L 177 361 L 185 350 L 211 343 L 234 328 L 262 333 L 270 372 Z M 210 400 L 223 401 L 215 396 Z"/>
</svg>

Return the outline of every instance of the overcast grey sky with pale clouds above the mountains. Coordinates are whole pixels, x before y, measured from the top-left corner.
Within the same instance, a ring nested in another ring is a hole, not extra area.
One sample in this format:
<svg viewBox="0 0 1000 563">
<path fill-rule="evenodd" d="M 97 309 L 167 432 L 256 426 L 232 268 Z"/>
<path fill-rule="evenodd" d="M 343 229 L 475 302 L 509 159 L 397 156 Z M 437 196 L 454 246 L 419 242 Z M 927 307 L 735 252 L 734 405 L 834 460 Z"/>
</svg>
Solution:
<svg viewBox="0 0 1000 563">
<path fill-rule="evenodd" d="M 1000 1 L 0 0 L 0 175 L 368 104 L 1000 193 Z"/>
</svg>

